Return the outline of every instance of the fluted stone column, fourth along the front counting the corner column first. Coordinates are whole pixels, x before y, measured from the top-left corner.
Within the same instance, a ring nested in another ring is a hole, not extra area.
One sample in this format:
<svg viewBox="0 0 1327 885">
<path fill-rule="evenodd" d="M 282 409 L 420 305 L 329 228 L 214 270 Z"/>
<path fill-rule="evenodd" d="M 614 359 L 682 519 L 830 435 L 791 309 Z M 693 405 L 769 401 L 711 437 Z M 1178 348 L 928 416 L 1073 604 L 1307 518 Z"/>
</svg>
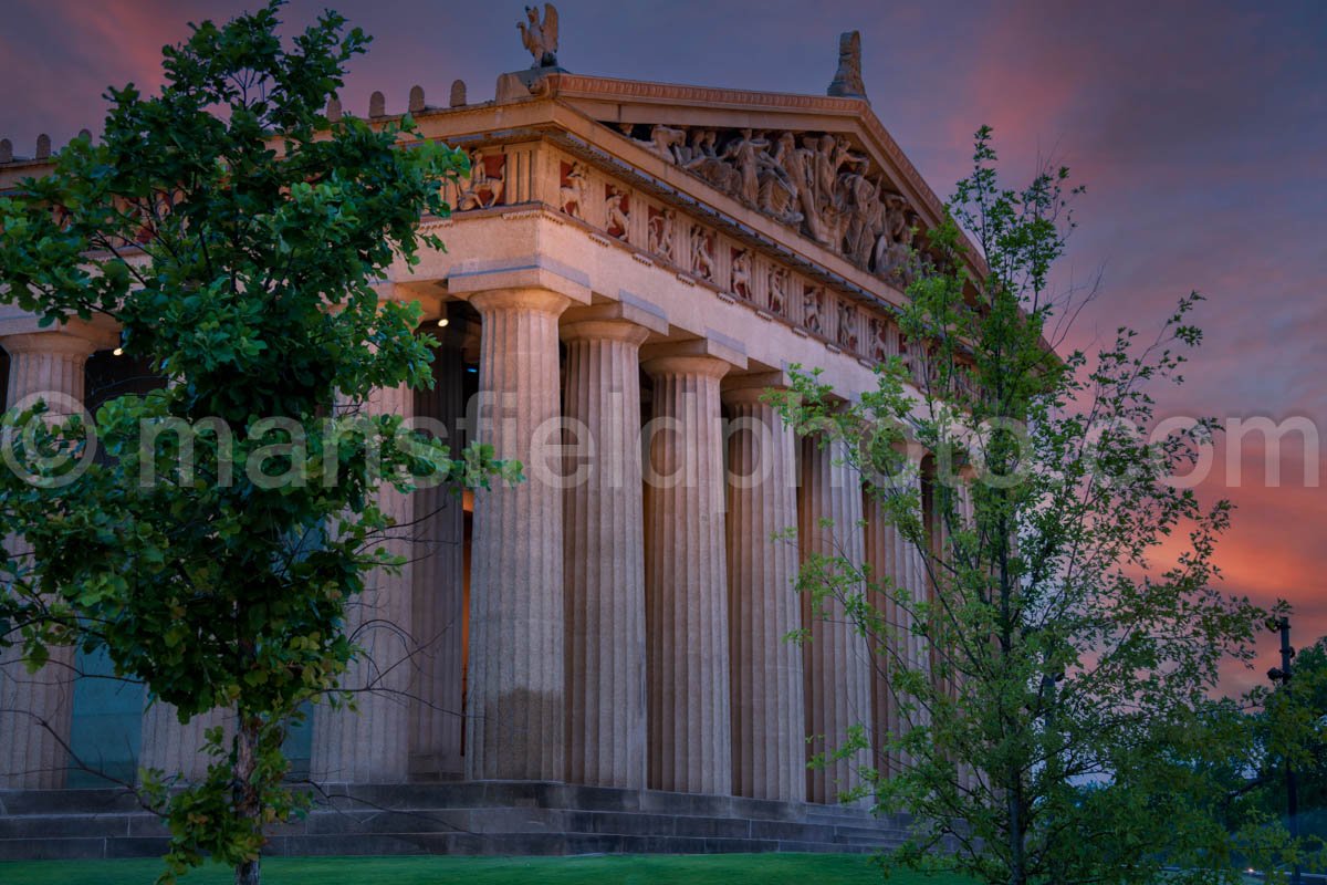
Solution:
<svg viewBox="0 0 1327 885">
<path fill-rule="evenodd" d="M 756 379 L 758 381 L 758 379 Z M 766 385 L 725 391 L 729 435 L 729 613 L 733 667 L 733 788 L 739 796 L 805 799 L 802 624 L 796 539 L 796 434 L 760 402 Z"/>
</svg>

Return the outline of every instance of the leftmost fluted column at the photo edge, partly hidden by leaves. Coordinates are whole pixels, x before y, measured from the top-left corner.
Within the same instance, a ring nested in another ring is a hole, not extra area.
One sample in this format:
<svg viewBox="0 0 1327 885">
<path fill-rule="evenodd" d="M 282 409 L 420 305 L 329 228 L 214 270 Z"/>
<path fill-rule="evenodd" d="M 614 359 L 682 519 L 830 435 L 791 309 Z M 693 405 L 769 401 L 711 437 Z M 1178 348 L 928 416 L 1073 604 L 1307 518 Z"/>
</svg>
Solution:
<svg viewBox="0 0 1327 885">
<path fill-rule="evenodd" d="M 84 369 L 97 349 L 93 336 L 66 329 L 0 338 L 9 354 L 7 407 L 40 397 L 53 415 L 68 415 L 84 399 Z M 23 539 L 5 541 L 16 559 L 31 551 Z M 19 646 L 0 651 L 0 788 L 56 789 L 65 785 L 73 716 L 73 646 L 52 646 L 36 673 Z"/>
</svg>

